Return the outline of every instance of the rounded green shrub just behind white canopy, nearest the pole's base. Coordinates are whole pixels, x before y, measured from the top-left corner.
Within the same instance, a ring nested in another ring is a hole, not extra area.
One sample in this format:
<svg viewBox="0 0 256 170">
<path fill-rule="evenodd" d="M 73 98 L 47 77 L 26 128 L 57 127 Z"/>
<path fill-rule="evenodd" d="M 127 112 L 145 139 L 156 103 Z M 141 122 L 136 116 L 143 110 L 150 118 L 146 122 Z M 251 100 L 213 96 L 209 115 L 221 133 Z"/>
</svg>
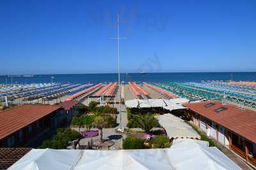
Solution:
<svg viewBox="0 0 256 170">
<path fill-rule="evenodd" d="M 123 140 L 123 149 L 124 150 L 136 150 L 143 149 L 144 140 L 140 138 L 126 138 Z"/>
</svg>

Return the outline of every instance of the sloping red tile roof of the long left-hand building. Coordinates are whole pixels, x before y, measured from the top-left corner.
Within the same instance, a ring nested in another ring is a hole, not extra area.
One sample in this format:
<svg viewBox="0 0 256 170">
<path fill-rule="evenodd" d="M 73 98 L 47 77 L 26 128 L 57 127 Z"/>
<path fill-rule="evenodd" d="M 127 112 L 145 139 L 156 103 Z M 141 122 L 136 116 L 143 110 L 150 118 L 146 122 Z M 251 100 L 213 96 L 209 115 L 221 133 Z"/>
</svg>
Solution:
<svg viewBox="0 0 256 170">
<path fill-rule="evenodd" d="M 61 106 L 23 104 L 0 112 L 0 139 L 60 108 Z"/>
</svg>

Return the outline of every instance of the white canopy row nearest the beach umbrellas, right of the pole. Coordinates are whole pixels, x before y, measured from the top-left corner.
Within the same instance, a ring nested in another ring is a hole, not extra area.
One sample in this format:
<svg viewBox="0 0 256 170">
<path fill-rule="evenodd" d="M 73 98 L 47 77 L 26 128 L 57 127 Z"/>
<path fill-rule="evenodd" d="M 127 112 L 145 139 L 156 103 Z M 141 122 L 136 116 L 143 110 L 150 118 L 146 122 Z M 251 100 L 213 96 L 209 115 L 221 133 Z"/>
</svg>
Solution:
<svg viewBox="0 0 256 170">
<path fill-rule="evenodd" d="M 125 101 L 125 105 L 127 108 L 164 108 L 170 111 L 185 109 L 185 107 L 178 102 L 178 99 L 174 102 L 172 102 L 172 100 L 173 99 L 133 99 Z M 180 101 L 184 101 L 184 99 L 180 99 Z"/>
</svg>

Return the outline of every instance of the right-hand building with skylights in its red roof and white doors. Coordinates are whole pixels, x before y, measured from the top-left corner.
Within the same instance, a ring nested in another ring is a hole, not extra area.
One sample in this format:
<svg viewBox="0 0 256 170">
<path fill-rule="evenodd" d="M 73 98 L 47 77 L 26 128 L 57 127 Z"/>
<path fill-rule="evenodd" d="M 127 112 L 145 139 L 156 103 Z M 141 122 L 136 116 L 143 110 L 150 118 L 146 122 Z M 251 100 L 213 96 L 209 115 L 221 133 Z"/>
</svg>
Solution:
<svg viewBox="0 0 256 170">
<path fill-rule="evenodd" d="M 256 166 L 256 112 L 220 101 L 186 103 L 191 122 Z"/>
</svg>

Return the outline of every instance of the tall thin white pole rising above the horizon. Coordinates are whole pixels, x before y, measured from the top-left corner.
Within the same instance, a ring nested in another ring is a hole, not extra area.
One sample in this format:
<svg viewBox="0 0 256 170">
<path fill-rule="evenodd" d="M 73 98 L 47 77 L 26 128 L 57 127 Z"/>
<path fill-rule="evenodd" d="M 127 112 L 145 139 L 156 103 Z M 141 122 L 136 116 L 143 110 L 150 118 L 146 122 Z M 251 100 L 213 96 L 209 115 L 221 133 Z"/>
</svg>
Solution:
<svg viewBox="0 0 256 170">
<path fill-rule="evenodd" d="M 119 13 L 117 13 L 117 54 L 118 54 L 118 91 L 119 91 L 119 115 L 120 115 L 120 130 L 122 131 L 122 111 L 121 111 L 121 85 L 120 85 L 120 38 L 119 38 Z"/>
</svg>

